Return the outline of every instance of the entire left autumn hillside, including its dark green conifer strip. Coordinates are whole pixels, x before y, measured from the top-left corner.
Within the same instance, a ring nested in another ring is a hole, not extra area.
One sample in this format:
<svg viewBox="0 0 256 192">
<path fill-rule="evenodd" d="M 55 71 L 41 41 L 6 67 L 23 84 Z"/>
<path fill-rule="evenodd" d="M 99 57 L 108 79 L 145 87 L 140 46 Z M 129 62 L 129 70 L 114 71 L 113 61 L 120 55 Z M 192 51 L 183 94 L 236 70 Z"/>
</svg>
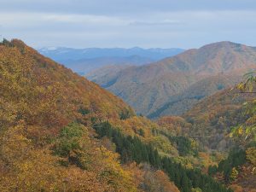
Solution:
<svg viewBox="0 0 256 192">
<path fill-rule="evenodd" d="M 0 85 L 1 191 L 230 191 L 195 140 L 20 40 L 0 44 Z"/>
</svg>

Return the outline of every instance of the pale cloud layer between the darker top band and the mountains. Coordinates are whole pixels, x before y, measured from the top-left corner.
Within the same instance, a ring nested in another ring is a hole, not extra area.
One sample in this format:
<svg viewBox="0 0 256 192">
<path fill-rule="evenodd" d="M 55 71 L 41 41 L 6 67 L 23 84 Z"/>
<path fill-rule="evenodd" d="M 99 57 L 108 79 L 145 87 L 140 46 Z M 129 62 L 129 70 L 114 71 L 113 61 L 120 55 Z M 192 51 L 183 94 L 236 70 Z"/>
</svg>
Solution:
<svg viewBox="0 0 256 192">
<path fill-rule="evenodd" d="M 199 47 L 230 40 L 256 45 L 252 10 L 154 11 L 143 15 L 0 12 L 1 34 L 33 46 Z"/>
</svg>

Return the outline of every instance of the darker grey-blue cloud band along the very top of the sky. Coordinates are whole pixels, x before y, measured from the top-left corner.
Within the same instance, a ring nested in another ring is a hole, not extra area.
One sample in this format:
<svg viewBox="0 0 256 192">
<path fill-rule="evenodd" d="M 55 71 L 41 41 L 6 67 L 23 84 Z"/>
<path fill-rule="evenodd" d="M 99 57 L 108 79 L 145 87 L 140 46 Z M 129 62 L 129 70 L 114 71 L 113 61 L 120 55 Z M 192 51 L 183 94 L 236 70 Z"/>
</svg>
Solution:
<svg viewBox="0 0 256 192">
<path fill-rule="evenodd" d="M 1 2 L 2 1 L 2 2 Z M 88 15 L 144 15 L 153 12 L 255 10 L 255 0 L 0 0 L 1 11 Z"/>
</svg>

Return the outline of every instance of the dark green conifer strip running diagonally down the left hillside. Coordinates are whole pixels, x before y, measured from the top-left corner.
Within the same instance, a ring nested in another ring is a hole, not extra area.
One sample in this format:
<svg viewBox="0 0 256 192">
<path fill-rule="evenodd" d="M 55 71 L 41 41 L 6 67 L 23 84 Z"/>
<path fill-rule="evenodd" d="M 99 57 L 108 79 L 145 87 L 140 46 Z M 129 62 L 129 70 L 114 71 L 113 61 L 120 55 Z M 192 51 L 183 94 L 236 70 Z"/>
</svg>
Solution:
<svg viewBox="0 0 256 192">
<path fill-rule="evenodd" d="M 120 131 L 116 131 L 108 122 L 96 124 L 94 128 L 100 137 L 112 139 L 122 162 L 134 160 L 137 164 L 148 163 L 156 169 L 163 169 L 183 192 L 198 188 L 209 192 L 231 191 L 214 181 L 212 177 L 201 174 L 198 170 L 187 170 L 180 164 L 173 162 L 171 158 L 160 157 L 160 154 L 153 146 L 143 144 L 138 137 L 124 137 Z"/>
</svg>

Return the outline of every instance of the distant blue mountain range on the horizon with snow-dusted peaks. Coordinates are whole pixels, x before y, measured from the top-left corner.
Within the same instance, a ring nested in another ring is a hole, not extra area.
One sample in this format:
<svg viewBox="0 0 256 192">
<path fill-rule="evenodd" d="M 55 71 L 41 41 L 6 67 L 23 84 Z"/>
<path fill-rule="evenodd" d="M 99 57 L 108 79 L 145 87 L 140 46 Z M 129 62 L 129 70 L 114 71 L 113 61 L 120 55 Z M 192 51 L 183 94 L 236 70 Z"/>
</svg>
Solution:
<svg viewBox="0 0 256 192">
<path fill-rule="evenodd" d="M 177 55 L 184 49 L 142 49 L 142 48 L 42 48 L 38 51 L 49 58 L 60 62 L 82 75 L 107 65 L 143 65 L 168 56 Z"/>
</svg>

